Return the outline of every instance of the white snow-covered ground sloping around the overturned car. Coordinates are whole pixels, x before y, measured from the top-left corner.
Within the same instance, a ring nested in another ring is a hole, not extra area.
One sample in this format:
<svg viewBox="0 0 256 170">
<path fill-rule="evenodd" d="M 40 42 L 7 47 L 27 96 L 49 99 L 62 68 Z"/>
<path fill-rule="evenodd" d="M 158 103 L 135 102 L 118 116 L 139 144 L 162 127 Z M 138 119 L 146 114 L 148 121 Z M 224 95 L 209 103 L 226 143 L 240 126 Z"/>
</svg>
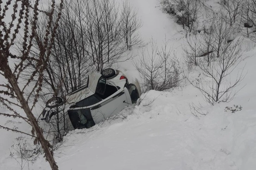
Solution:
<svg viewBox="0 0 256 170">
<path fill-rule="evenodd" d="M 177 33 L 178 25 L 157 7 L 158 1 L 130 1 L 144 22 L 140 29 L 142 38 L 148 41 L 152 37 L 161 45 L 166 36 L 181 58 L 184 35 Z M 215 2 L 211 1 L 211 5 L 217 6 Z M 248 45 L 244 43 L 244 46 Z M 140 105 L 124 109 L 115 119 L 68 133 L 65 147 L 55 153 L 59 169 L 256 169 L 255 54 L 253 48 L 245 51 L 244 60 L 234 70 L 231 79 L 244 65 L 247 74 L 239 85 L 240 88 L 245 85 L 244 88 L 231 102 L 208 105 L 202 94 L 186 81 L 172 90 L 149 91 L 141 96 Z M 126 74 L 138 76 L 132 62 L 120 66 Z M 198 74 L 194 72 L 193 76 Z M 200 115 L 200 119 L 191 115 L 189 103 L 192 102 L 201 103 L 202 112 L 208 114 Z M 226 106 L 233 105 L 242 106 L 242 110 L 225 111 Z M 17 170 L 18 163 L 8 153 L 12 140 L 19 134 L 2 129 L 0 133 L 0 170 Z M 29 169 L 49 170 L 50 166 L 40 156 Z"/>
</svg>

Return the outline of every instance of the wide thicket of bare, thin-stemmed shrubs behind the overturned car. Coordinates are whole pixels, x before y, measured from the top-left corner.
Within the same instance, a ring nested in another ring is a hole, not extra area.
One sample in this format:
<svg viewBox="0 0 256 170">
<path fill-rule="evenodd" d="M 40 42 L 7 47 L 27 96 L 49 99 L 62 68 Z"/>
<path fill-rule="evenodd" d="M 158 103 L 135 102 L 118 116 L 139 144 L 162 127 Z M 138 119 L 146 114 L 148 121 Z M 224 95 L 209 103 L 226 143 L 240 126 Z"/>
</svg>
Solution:
<svg viewBox="0 0 256 170">
<path fill-rule="evenodd" d="M 100 72 L 126 61 L 131 57 L 124 55 L 127 48 L 143 44 L 138 33 L 141 20 L 127 0 L 122 8 L 114 0 L 65 0 L 64 8 L 61 24 L 66 27 L 57 32 L 53 63 L 62 67 L 59 74 L 67 74 L 64 85 L 68 80 L 67 85 L 80 87 L 91 68 Z"/>
</svg>

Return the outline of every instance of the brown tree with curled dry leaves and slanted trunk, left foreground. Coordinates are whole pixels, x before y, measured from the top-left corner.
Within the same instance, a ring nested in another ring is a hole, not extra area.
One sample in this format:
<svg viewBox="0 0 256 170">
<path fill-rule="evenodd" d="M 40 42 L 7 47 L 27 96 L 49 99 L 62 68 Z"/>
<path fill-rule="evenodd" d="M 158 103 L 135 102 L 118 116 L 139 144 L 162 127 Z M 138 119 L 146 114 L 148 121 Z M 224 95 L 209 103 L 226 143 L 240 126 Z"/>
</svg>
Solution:
<svg viewBox="0 0 256 170">
<path fill-rule="evenodd" d="M 2 6 L 2 1 L 0 1 L 0 75 L 4 82 L 0 85 L 4 90 L 0 92 L 1 94 L 5 94 L 5 96 L 0 97 L 0 102 L 10 111 L 10 113 L 0 113 L 0 115 L 21 118 L 32 126 L 32 131 L 31 134 L 29 134 L 2 125 L 0 125 L 0 127 L 35 137 L 34 143 L 41 143 L 46 159 L 53 170 L 57 170 L 58 166 L 50 150 L 51 146 L 49 142 L 45 140 L 42 128 L 39 127 L 33 115 L 33 109 L 37 103 L 39 93 L 42 90 L 43 72 L 53 46 L 55 32 L 61 16 L 62 4 L 63 1 L 60 2 L 60 11 L 57 12 L 57 20 L 53 23 L 51 21 L 56 9 L 55 1 L 52 2 L 50 11 L 47 13 L 49 22 L 46 26 L 46 31 L 38 51 L 39 55 L 34 56 L 31 55 L 31 48 L 33 39 L 36 38 L 38 17 L 45 15 L 45 13 L 41 13 L 39 10 L 38 0 L 36 0 L 33 5 L 31 5 L 29 0 L 8 0 L 4 6 Z M 6 12 L 9 11 L 10 6 L 13 7 L 11 9 L 12 18 L 10 22 L 7 22 Z M 32 20 L 30 20 L 30 17 L 32 17 Z M 52 32 L 50 31 L 51 28 L 53 28 Z M 23 38 L 20 39 L 20 37 L 18 37 L 19 34 L 23 34 Z M 20 40 L 22 41 L 21 43 L 18 42 Z M 34 69 L 30 69 L 30 63 L 26 63 L 28 60 L 35 61 L 36 67 Z M 31 73 L 29 77 L 28 72 Z M 28 79 L 25 80 L 24 77 Z M 24 92 L 27 92 L 28 95 Z M 19 111 L 15 110 L 17 107 Z M 26 117 L 23 116 L 22 110 Z"/>
</svg>

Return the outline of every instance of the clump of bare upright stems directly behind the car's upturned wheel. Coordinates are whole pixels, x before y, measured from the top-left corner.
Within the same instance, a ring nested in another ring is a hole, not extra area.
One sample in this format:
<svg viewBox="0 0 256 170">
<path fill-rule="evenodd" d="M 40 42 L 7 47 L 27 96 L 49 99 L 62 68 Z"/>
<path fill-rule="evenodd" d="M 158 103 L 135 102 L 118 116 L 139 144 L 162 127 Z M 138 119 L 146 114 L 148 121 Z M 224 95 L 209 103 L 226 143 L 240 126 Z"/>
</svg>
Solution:
<svg viewBox="0 0 256 170">
<path fill-rule="evenodd" d="M 119 9 L 112 0 L 89 0 L 85 9 L 87 55 L 97 71 L 116 62 L 125 61 Z"/>
</svg>

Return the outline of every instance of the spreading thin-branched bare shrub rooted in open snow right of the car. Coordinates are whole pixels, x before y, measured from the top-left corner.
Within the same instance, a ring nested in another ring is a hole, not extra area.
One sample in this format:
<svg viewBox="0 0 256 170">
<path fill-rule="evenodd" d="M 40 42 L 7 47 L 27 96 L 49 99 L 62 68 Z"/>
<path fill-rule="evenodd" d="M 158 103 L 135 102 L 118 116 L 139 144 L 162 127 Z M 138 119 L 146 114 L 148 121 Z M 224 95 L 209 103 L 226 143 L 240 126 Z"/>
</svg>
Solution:
<svg viewBox="0 0 256 170">
<path fill-rule="evenodd" d="M 190 83 L 199 89 L 206 101 L 210 104 L 216 102 L 228 102 L 233 99 L 236 92 L 233 89 L 243 80 L 242 72 L 237 74 L 237 78 L 231 80 L 230 76 L 234 68 L 241 61 L 240 42 L 225 43 L 221 47 L 219 58 L 211 62 L 209 66 L 198 65 L 202 74 L 210 79 L 206 84 L 202 82 L 201 75 L 196 81 Z"/>
</svg>

